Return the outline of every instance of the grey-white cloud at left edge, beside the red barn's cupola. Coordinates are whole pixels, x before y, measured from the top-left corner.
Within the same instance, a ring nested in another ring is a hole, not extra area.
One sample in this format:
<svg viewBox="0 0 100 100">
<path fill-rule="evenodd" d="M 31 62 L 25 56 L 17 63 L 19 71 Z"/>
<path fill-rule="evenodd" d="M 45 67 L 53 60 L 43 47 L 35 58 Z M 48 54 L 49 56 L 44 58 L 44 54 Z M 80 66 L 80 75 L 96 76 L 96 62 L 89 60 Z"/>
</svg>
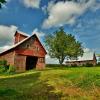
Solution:
<svg viewBox="0 0 100 100">
<path fill-rule="evenodd" d="M 0 51 L 9 48 L 14 41 L 14 33 L 17 27 L 14 25 L 4 26 L 0 25 Z"/>
</svg>

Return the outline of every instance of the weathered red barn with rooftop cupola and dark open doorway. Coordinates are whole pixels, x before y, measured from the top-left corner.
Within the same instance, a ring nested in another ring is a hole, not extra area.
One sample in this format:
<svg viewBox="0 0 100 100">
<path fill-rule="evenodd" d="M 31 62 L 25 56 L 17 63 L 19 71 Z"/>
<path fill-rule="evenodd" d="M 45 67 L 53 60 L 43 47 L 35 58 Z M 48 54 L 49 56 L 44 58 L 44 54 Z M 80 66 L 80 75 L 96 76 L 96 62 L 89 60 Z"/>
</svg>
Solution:
<svg viewBox="0 0 100 100">
<path fill-rule="evenodd" d="M 14 45 L 0 53 L 0 60 L 6 60 L 8 65 L 16 67 L 17 72 L 44 69 L 46 50 L 36 34 L 29 36 L 16 31 L 14 38 Z"/>
</svg>

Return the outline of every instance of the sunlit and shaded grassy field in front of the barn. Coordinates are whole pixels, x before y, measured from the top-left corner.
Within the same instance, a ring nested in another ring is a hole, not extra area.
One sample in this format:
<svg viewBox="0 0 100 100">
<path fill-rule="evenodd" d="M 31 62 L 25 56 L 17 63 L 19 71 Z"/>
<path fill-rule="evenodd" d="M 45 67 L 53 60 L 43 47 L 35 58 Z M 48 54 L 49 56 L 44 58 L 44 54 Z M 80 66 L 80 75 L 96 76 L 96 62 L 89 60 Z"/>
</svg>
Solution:
<svg viewBox="0 0 100 100">
<path fill-rule="evenodd" d="M 0 100 L 100 100 L 100 67 L 0 75 Z"/>
</svg>

